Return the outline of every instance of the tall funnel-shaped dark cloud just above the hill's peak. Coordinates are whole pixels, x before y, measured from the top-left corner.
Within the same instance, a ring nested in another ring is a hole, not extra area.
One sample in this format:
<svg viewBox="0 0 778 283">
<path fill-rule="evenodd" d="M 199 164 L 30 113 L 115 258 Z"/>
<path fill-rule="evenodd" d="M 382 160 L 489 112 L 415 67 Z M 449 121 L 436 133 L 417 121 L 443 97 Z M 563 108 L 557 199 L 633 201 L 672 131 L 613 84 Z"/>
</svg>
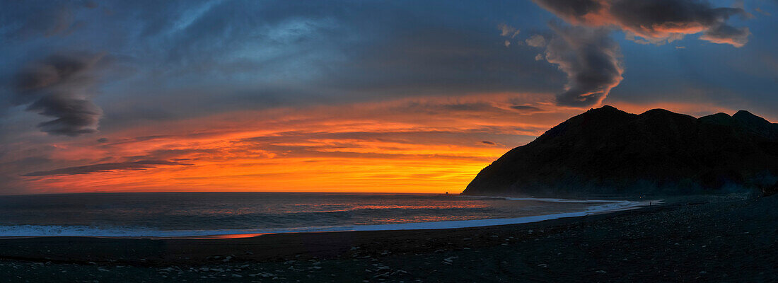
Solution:
<svg viewBox="0 0 778 283">
<path fill-rule="evenodd" d="M 567 107 L 598 105 L 622 81 L 619 44 L 608 37 L 608 30 L 551 27 L 556 34 L 545 47 L 545 60 L 567 74 L 565 91 L 556 96 L 556 103 Z"/>
</svg>

